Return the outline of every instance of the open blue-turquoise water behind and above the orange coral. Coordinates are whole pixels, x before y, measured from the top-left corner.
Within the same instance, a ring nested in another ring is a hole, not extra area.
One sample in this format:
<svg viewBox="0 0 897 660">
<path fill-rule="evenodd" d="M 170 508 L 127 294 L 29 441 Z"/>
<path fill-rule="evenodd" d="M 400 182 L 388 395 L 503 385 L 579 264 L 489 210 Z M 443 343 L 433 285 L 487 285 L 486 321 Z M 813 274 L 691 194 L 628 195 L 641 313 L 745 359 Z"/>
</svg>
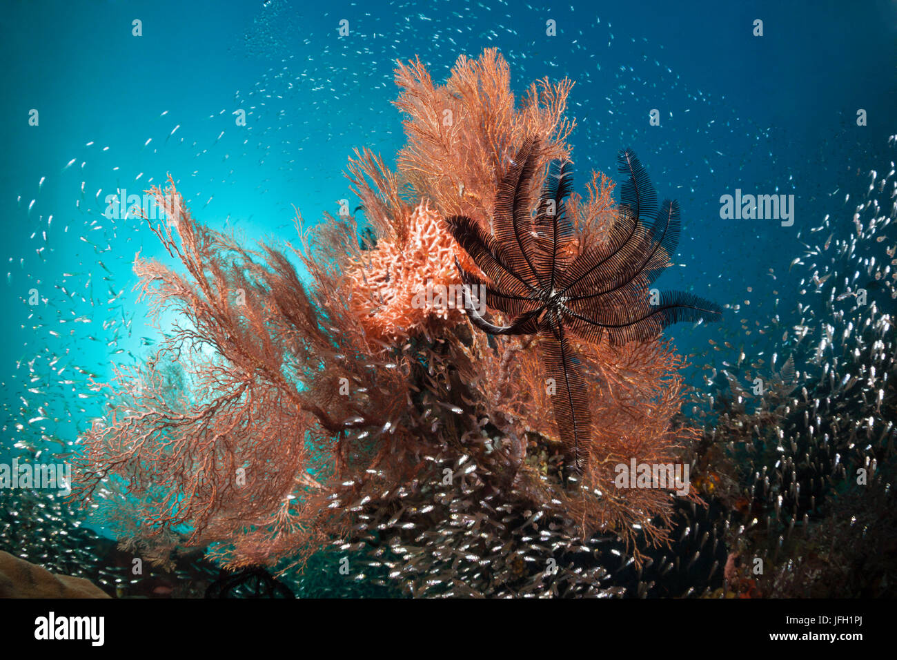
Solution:
<svg viewBox="0 0 897 660">
<path fill-rule="evenodd" d="M 167 257 L 139 219 L 103 217 L 107 196 L 170 174 L 205 224 L 249 242 L 294 240 L 293 207 L 314 224 L 352 198 L 342 173 L 353 149 L 394 163 L 396 59 L 420 57 L 442 80 L 459 55 L 496 47 L 518 93 L 543 76 L 576 81 L 579 182 L 592 169 L 615 177 L 618 150 L 633 148 L 659 198 L 682 207 L 680 266 L 658 284 L 727 305 L 718 328 L 669 330 L 696 363 L 727 359 L 710 338 L 736 352 L 778 339 L 745 336 L 742 320 L 764 327 L 797 304 L 781 276 L 807 229 L 831 214 L 848 234 L 845 196 L 893 161 L 893 2 L 13 0 L 4 10 L 0 457 L 72 451 L 103 412 L 85 385 L 138 363 L 158 337 L 131 268 L 138 252 Z M 722 219 L 720 197 L 736 189 L 793 194 L 794 224 Z"/>
</svg>

